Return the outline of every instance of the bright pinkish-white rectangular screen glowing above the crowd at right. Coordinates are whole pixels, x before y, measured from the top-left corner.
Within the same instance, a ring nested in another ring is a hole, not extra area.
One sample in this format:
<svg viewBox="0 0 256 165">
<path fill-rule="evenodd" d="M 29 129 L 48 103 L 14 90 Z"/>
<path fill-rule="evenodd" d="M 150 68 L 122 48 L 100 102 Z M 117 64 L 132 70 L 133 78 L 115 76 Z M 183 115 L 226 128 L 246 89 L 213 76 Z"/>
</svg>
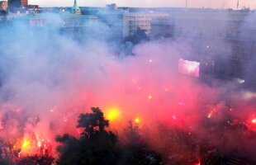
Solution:
<svg viewBox="0 0 256 165">
<path fill-rule="evenodd" d="M 178 73 L 187 74 L 199 78 L 200 63 L 197 61 L 178 60 Z"/>
</svg>

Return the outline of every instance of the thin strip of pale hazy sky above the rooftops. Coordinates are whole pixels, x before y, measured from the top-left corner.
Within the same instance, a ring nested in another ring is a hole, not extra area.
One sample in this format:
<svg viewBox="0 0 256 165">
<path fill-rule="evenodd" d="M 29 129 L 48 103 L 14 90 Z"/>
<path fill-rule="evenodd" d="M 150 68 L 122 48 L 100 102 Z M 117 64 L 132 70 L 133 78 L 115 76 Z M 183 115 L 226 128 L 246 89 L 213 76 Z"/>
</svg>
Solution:
<svg viewBox="0 0 256 165">
<path fill-rule="evenodd" d="M 185 7 L 186 0 L 78 0 L 78 6 L 103 7 L 115 2 L 119 7 Z M 40 7 L 67 7 L 73 0 L 29 0 L 30 4 Z M 236 8 L 237 0 L 187 0 L 188 7 L 232 7 Z M 239 0 L 239 8 L 256 8 L 256 0 Z"/>
</svg>

